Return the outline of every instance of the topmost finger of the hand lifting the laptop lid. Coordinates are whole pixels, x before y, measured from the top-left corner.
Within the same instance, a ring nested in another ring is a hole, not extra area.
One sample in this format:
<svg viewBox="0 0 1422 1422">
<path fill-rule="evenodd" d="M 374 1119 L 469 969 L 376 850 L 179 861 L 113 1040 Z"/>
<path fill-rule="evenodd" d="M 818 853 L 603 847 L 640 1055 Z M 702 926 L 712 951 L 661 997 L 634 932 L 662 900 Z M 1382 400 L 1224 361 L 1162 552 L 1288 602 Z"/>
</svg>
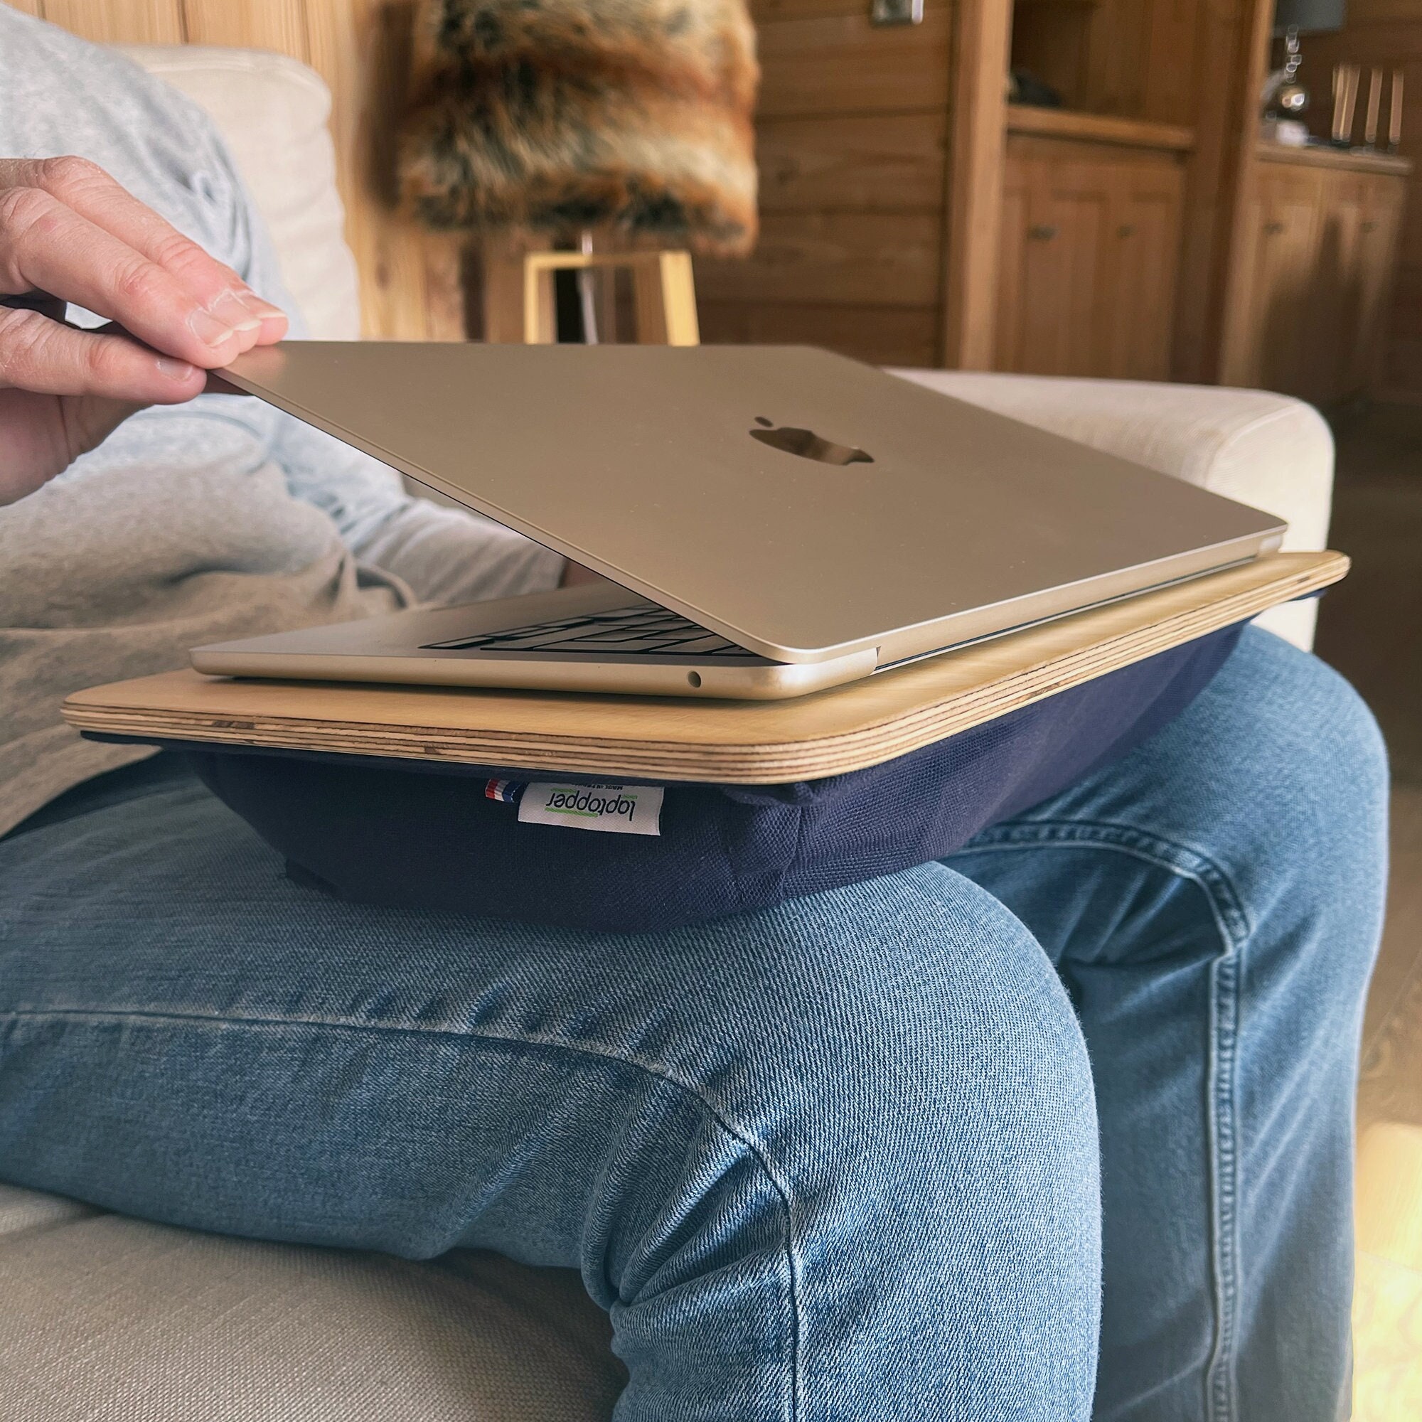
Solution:
<svg viewBox="0 0 1422 1422">
<path fill-rule="evenodd" d="M 205 310 L 233 326 L 255 316 L 262 323 L 262 344 L 286 334 L 286 316 L 277 307 L 262 300 L 232 267 L 203 252 L 97 164 L 50 158 L 28 165 L 26 175 L 33 186 L 164 267 Z"/>
</svg>

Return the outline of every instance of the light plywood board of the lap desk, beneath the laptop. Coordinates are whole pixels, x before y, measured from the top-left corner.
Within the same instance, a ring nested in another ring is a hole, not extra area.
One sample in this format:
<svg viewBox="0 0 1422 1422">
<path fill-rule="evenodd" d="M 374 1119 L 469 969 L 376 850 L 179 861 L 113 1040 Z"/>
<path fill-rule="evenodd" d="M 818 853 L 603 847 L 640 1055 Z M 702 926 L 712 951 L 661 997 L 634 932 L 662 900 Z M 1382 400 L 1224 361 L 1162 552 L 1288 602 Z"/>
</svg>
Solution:
<svg viewBox="0 0 1422 1422">
<path fill-rule="evenodd" d="M 138 741 L 269 747 L 656 781 L 774 785 L 877 765 L 1338 582 L 1274 553 L 791 701 L 255 681 L 171 671 L 64 718 Z"/>
</svg>

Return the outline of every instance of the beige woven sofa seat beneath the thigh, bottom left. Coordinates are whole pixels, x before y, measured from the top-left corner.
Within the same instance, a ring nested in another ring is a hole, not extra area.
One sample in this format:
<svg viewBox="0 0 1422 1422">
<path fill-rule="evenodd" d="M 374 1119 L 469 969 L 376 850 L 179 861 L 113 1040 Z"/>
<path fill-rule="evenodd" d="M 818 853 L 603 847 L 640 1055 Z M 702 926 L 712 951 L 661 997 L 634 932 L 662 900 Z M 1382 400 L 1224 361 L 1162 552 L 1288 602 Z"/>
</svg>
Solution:
<svg viewBox="0 0 1422 1422">
<path fill-rule="evenodd" d="M 0 1413 L 593 1422 L 623 1372 L 567 1270 L 199 1234 L 0 1186 Z"/>
</svg>

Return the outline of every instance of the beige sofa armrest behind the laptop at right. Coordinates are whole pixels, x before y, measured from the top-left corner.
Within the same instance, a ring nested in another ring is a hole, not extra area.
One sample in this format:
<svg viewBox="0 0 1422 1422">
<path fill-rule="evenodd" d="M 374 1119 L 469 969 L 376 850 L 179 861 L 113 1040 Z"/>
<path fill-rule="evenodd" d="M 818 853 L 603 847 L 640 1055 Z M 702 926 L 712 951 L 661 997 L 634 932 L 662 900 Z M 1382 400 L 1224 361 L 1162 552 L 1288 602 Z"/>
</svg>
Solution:
<svg viewBox="0 0 1422 1422">
<path fill-rule="evenodd" d="M 1327 543 L 1332 434 L 1303 401 L 1216 385 L 947 370 L 893 374 L 1287 519 L 1285 549 Z M 1258 621 L 1308 650 L 1317 609 L 1315 602 L 1288 603 Z"/>
</svg>

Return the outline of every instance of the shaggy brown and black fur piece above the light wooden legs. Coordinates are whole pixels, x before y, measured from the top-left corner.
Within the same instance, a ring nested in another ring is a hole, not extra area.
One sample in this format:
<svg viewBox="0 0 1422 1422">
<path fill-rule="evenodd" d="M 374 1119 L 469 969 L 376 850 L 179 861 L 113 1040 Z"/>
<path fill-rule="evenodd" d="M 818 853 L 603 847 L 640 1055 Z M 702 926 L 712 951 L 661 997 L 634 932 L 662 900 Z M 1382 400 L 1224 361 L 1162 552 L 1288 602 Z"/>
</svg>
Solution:
<svg viewBox="0 0 1422 1422">
<path fill-rule="evenodd" d="M 755 240 L 745 0 L 421 0 L 400 155 L 442 229 Z"/>
</svg>

